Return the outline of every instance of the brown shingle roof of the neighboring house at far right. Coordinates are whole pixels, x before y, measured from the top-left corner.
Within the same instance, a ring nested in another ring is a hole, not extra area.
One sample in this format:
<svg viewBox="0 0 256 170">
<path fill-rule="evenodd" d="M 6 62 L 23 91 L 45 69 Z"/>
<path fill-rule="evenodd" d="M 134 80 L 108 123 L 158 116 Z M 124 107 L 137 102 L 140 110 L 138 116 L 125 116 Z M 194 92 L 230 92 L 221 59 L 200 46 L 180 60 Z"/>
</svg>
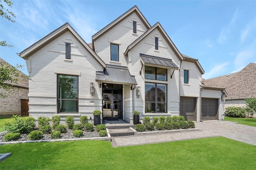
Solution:
<svg viewBox="0 0 256 170">
<path fill-rule="evenodd" d="M 256 64 L 250 63 L 241 71 L 208 79 L 226 89 L 226 100 L 256 98 Z"/>
</svg>

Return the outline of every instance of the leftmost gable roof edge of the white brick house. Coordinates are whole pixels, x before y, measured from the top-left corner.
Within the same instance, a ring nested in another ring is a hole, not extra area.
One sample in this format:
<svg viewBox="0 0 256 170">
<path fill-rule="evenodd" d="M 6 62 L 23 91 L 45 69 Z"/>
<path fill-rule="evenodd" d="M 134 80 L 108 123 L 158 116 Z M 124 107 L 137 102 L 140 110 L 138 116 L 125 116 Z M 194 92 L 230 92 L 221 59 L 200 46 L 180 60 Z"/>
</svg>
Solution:
<svg viewBox="0 0 256 170">
<path fill-rule="evenodd" d="M 87 51 L 98 61 L 99 64 L 101 64 L 104 68 L 106 67 L 106 64 L 100 57 L 89 47 L 89 45 L 78 35 L 78 33 L 70 26 L 69 23 L 65 23 L 64 25 L 60 26 L 56 30 L 52 31 L 50 34 L 46 35 L 44 38 L 40 39 L 24 51 L 17 53 L 18 56 L 22 57 L 23 59 L 27 59 L 30 57 L 32 54 L 34 54 L 36 51 L 39 51 L 47 45 L 50 41 L 53 39 L 56 39 L 60 35 L 66 33 L 67 31 L 70 31 L 74 37 L 87 49 Z"/>
</svg>

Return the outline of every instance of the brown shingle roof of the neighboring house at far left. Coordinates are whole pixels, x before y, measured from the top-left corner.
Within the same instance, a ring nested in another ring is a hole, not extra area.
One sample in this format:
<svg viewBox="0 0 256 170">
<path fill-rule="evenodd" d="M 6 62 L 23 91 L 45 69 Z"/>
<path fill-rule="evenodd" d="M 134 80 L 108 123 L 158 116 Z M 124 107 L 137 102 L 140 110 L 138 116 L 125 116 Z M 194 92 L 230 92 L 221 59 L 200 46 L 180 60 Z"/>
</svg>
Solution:
<svg viewBox="0 0 256 170">
<path fill-rule="evenodd" d="M 4 61 L 2 58 L 0 58 L 0 62 L 4 63 L 6 65 L 12 66 L 11 64 L 9 64 L 6 61 Z M 18 74 L 19 74 L 19 76 L 17 77 L 18 78 L 17 84 L 14 83 L 14 82 L 10 82 L 10 81 L 6 81 L 4 83 L 5 84 L 10 84 L 10 85 L 12 85 L 14 87 L 28 89 L 28 78 L 27 78 L 27 75 L 24 74 L 23 72 L 21 72 L 20 70 L 18 70 L 17 68 L 15 68 L 15 69 L 18 71 Z"/>
</svg>

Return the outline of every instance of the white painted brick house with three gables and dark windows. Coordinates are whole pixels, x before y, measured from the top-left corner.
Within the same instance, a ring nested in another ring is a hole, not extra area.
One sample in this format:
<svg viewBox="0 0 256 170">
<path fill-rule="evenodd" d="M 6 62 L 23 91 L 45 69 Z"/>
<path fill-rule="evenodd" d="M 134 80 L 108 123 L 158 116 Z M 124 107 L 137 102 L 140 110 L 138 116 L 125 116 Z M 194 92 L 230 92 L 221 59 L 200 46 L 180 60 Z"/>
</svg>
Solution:
<svg viewBox="0 0 256 170">
<path fill-rule="evenodd" d="M 29 112 L 35 118 L 93 119 L 92 112 L 101 110 L 103 119 L 132 123 L 136 110 L 140 119 L 184 115 L 200 121 L 203 68 L 137 6 L 94 34 L 90 46 L 65 23 L 18 55 L 32 79 Z M 218 120 L 223 113 L 215 114 Z"/>
</svg>

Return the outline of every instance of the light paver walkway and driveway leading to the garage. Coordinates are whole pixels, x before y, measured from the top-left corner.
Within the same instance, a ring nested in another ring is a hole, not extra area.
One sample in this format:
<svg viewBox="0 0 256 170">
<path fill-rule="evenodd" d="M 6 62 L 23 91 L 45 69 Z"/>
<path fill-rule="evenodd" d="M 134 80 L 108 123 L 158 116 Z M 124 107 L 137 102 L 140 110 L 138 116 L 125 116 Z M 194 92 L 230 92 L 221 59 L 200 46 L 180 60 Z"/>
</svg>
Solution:
<svg viewBox="0 0 256 170">
<path fill-rule="evenodd" d="M 240 125 L 231 121 L 204 121 L 196 122 L 195 125 L 199 130 L 111 137 L 111 143 L 113 147 L 122 147 L 222 136 L 236 141 L 256 145 L 256 127 L 253 126 Z"/>
</svg>

